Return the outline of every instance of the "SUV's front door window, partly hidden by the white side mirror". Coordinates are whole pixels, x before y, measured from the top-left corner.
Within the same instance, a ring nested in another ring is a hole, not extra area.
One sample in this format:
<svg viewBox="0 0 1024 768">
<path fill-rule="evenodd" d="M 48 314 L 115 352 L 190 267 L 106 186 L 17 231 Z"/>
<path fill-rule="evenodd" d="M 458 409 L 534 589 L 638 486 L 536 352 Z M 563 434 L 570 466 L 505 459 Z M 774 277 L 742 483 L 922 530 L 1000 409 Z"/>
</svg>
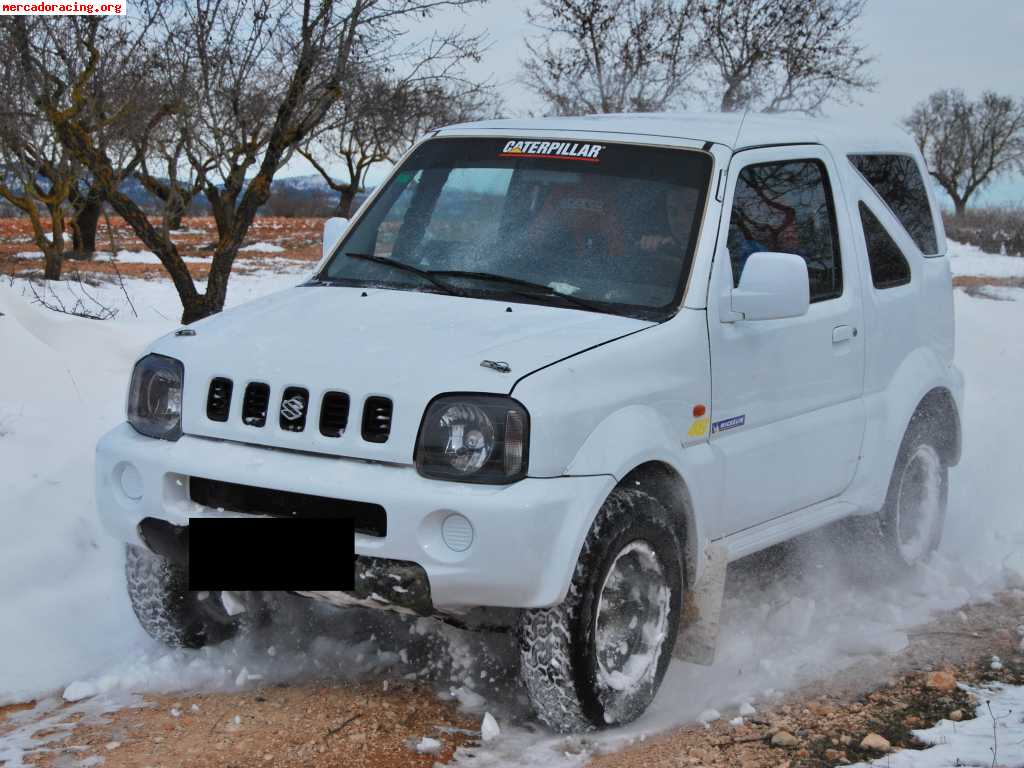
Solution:
<svg viewBox="0 0 1024 768">
<path fill-rule="evenodd" d="M 843 294 L 831 190 L 816 160 L 760 163 L 739 172 L 727 241 L 732 284 L 752 253 L 795 253 L 807 262 L 811 301 Z"/>
</svg>

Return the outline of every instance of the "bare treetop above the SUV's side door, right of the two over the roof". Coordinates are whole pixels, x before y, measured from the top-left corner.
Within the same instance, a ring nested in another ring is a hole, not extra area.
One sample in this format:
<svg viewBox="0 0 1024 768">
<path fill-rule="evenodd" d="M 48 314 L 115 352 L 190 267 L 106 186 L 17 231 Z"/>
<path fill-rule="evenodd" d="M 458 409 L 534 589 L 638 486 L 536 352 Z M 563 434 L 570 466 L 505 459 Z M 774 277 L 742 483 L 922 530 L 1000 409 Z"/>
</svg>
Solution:
<svg viewBox="0 0 1024 768">
<path fill-rule="evenodd" d="M 853 36 L 865 0 L 700 0 L 707 92 L 723 112 L 818 114 L 869 90 Z"/>
</svg>

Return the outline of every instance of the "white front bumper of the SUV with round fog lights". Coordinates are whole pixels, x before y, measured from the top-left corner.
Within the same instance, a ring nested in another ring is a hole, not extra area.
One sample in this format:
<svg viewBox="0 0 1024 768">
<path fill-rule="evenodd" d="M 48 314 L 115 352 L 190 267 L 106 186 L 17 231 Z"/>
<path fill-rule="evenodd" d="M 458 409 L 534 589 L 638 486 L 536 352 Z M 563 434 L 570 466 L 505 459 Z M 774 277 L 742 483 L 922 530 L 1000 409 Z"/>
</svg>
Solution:
<svg viewBox="0 0 1024 768">
<path fill-rule="evenodd" d="M 232 514 L 193 502 L 193 476 L 383 506 L 387 536 L 356 534 L 355 553 L 420 565 L 438 610 L 561 602 L 583 539 L 614 486 L 608 475 L 526 478 L 508 486 L 431 480 L 410 466 L 189 435 L 169 442 L 122 424 L 96 446 L 103 526 L 125 543 L 141 545 L 138 525 L 144 518 L 186 525 L 189 517 Z M 441 534 L 454 514 L 472 525 L 464 551 L 449 547 Z"/>
</svg>

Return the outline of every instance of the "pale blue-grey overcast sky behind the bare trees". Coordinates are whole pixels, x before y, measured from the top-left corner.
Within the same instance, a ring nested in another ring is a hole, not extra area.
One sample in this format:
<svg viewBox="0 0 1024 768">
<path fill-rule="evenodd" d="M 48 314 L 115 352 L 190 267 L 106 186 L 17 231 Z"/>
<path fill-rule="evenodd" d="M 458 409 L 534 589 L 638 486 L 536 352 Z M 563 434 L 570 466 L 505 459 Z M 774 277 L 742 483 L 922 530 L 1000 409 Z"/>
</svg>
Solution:
<svg viewBox="0 0 1024 768">
<path fill-rule="evenodd" d="M 534 35 L 523 9 L 528 0 L 490 0 L 468 11 L 450 10 L 432 20 L 437 29 L 463 27 L 482 32 L 490 47 L 472 76 L 501 85 L 510 114 L 541 112 L 541 104 L 519 82 L 522 39 Z M 841 118 L 854 112 L 896 122 L 910 108 L 939 88 L 963 88 L 969 95 L 991 89 L 1024 97 L 1024 2 L 1021 0 L 868 0 L 859 37 L 876 57 L 872 75 L 879 81 L 853 106 L 829 106 L 825 114 Z M 702 108 L 702 104 L 692 104 Z M 298 163 L 286 175 L 311 172 Z M 379 180 L 379 175 L 371 182 Z M 979 202 L 1024 204 L 1024 181 L 999 180 Z"/>
</svg>

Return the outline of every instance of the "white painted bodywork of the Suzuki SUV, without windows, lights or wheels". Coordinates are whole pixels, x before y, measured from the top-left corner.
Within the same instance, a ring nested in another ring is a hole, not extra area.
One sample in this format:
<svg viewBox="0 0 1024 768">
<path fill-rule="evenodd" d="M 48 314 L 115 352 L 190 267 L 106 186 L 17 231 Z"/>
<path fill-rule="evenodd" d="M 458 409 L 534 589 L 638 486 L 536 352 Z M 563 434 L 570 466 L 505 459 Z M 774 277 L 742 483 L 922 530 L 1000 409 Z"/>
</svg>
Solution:
<svg viewBox="0 0 1024 768">
<path fill-rule="evenodd" d="M 909 154 L 924 169 L 901 132 L 795 118 L 657 115 L 486 122 L 438 135 L 578 137 L 711 154 L 713 194 L 679 310 L 654 324 L 435 293 L 300 287 L 196 324 L 196 336 L 165 337 L 152 348 L 184 365 L 185 435 L 155 440 L 122 425 L 97 447 L 97 503 L 112 535 L 137 544 L 143 517 L 185 524 L 189 515 L 206 514 L 188 501 L 191 475 L 364 501 L 385 507 L 388 532 L 358 536 L 356 552 L 421 564 L 439 609 L 546 606 L 564 598 L 595 515 L 637 467 L 655 463 L 678 476 L 685 503 L 673 511 L 699 570 L 709 541 L 722 542 L 736 558 L 877 511 L 925 394 L 945 389 L 961 407 L 947 259 L 924 258 L 903 238 L 911 285 L 882 295 L 870 284 L 858 201 L 891 231 L 902 230 L 846 155 Z M 731 275 L 727 254 L 717 249 L 736 174 L 757 158 L 825 163 L 846 290 L 799 317 L 723 323 Z M 372 205 L 373 199 L 353 225 Z M 936 222 L 944 253 L 937 214 Z M 834 344 L 834 329 L 845 325 L 857 328 L 857 336 L 841 335 Z M 512 371 L 483 368 L 483 359 Z M 207 388 L 216 376 L 236 383 L 232 414 L 247 382 L 270 385 L 265 428 L 206 418 Z M 276 426 L 287 386 L 309 389 L 304 432 Z M 315 428 L 327 390 L 351 397 L 349 428 L 337 439 Z M 495 486 L 417 473 L 412 464 L 424 409 L 445 392 L 511 394 L 526 408 L 527 478 Z M 394 401 L 385 443 L 359 435 L 369 395 Z M 694 417 L 698 404 L 709 410 L 707 422 Z M 707 429 L 739 415 L 741 425 L 715 434 Z M 125 463 L 139 470 L 141 499 L 118 487 Z M 441 542 L 440 525 L 452 512 L 473 524 L 466 552 Z"/>
</svg>

